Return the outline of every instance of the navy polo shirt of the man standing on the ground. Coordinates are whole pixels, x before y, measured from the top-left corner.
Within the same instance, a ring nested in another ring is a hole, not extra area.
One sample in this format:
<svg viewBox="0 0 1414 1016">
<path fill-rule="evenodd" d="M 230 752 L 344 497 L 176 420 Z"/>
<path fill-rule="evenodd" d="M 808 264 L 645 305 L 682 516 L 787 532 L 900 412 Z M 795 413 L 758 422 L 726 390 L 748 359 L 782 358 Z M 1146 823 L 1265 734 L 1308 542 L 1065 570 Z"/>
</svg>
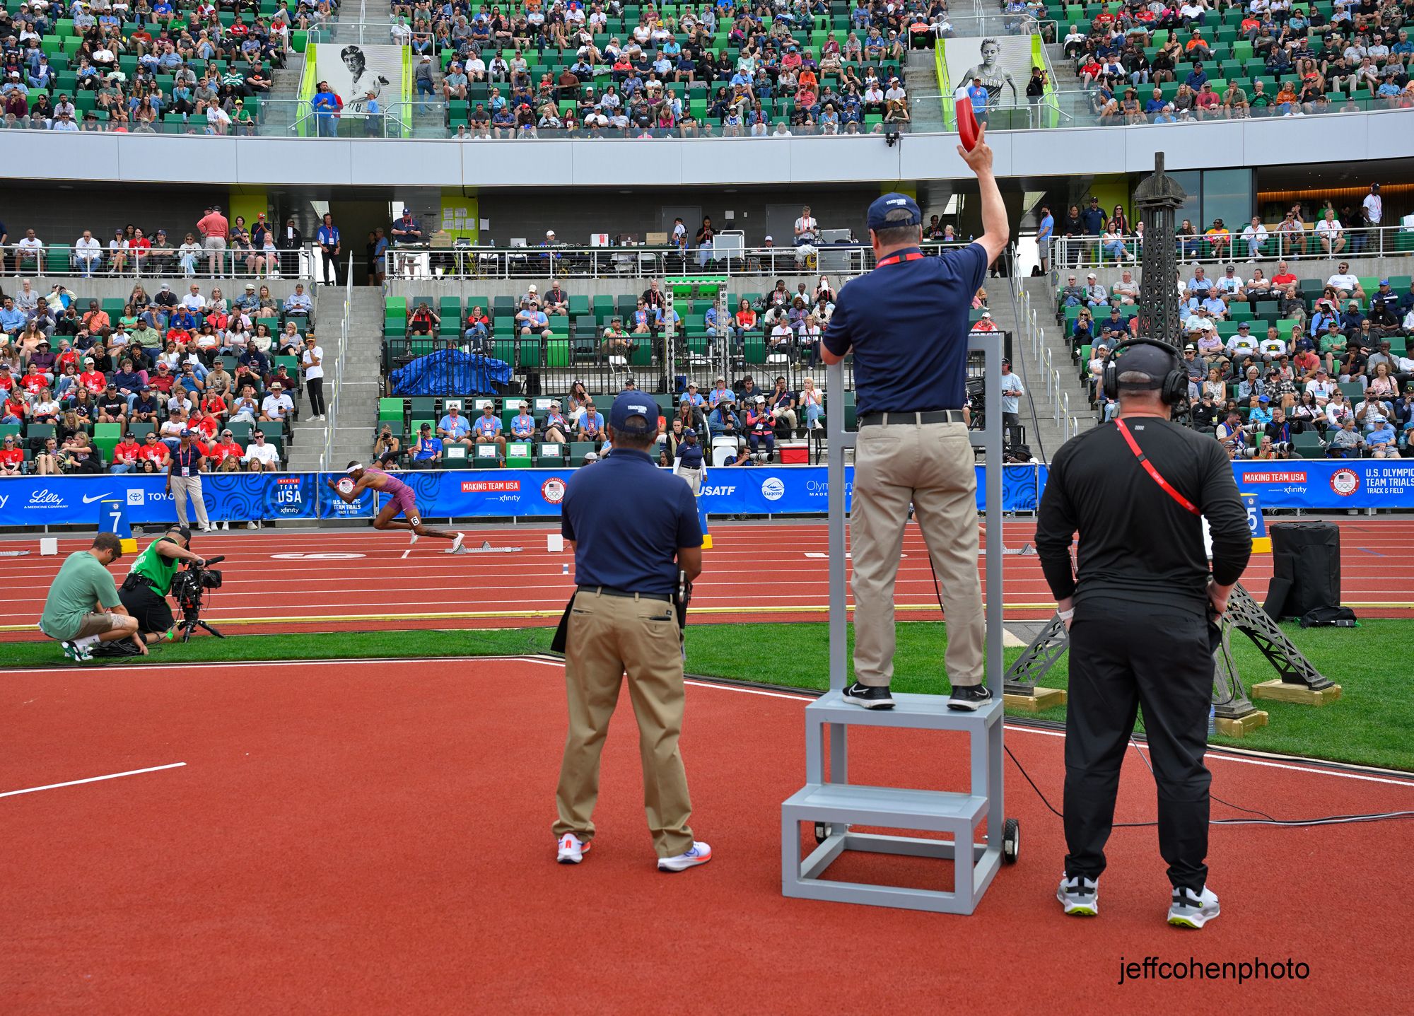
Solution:
<svg viewBox="0 0 1414 1016">
<path fill-rule="evenodd" d="M 574 471 L 560 532 L 575 543 L 577 584 L 628 593 L 676 593 L 677 548 L 703 543 L 691 487 L 635 449 Z"/>
</svg>

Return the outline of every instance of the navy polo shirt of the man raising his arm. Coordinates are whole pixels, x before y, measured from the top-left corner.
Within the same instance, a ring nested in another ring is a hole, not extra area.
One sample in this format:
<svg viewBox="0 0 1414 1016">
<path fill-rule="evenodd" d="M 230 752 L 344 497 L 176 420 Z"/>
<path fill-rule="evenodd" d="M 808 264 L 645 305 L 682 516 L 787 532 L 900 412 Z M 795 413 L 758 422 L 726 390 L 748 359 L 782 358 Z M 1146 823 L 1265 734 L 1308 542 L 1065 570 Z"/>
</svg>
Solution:
<svg viewBox="0 0 1414 1016">
<path fill-rule="evenodd" d="M 892 258 L 899 260 L 894 262 Z M 922 413 L 967 405 L 971 299 L 987 249 L 969 243 L 925 258 L 905 248 L 840 289 L 824 348 L 854 348 L 857 412 Z"/>
</svg>

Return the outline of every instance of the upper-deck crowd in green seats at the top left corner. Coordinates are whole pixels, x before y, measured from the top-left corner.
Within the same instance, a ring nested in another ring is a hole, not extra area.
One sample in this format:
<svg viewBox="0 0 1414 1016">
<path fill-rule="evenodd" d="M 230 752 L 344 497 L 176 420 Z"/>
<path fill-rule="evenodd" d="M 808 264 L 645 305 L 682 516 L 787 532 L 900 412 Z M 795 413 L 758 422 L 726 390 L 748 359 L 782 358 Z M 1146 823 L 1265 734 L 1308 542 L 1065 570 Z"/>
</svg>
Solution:
<svg viewBox="0 0 1414 1016">
<path fill-rule="evenodd" d="M 4 127 L 253 133 L 291 31 L 337 3 L 21 3 L 0 10 Z"/>
</svg>

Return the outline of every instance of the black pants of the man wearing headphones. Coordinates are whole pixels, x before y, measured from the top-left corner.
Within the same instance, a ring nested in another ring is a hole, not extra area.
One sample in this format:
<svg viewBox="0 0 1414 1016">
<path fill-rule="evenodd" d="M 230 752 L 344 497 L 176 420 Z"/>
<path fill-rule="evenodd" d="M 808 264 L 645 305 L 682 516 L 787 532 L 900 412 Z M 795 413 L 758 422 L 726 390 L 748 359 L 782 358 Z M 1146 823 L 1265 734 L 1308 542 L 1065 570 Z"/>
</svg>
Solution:
<svg viewBox="0 0 1414 1016">
<path fill-rule="evenodd" d="M 1120 763 L 1144 708 L 1158 784 L 1158 849 L 1175 887 L 1208 879 L 1208 709 L 1213 688 L 1209 621 L 1126 600 L 1086 600 L 1070 627 L 1065 737 L 1068 877 L 1099 879 L 1114 825 Z M 1135 760 L 1137 761 L 1137 760 Z"/>
</svg>

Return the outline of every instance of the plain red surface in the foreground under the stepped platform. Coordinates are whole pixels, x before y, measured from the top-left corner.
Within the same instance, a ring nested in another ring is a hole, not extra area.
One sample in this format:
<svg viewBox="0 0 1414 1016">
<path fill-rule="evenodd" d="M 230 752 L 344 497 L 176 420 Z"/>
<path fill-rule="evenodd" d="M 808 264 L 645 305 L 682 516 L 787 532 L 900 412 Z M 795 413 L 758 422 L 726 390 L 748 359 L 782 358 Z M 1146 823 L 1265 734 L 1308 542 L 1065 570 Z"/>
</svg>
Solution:
<svg viewBox="0 0 1414 1016">
<path fill-rule="evenodd" d="M 1223 916 L 1164 924 L 1155 831 L 1117 829 L 1102 916 L 1053 900 L 1060 822 L 1007 764 L 1021 860 L 970 918 L 781 897 L 800 699 L 690 686 L 683 754 L 714 860 L 659 874 L 625 699 L 594 852 L 553 863 L 560 668 L 533 662 L 11 671 L 0 683 L 10 1016 L 105 1013 L 1396 1013 L 1407 824 L 1215 828 Z M 874 734 L 874 736 L 871 736 Z M 1060 798 L 1059 737 L 1008 730 Z M 861 783 L 957 788 L 964 746 L 857 729 Z M 1131 753 L 1133 754 L 1133 753 Z M 1414 783 L 1210 756 L 1213 792 L 1278 816 L 1407 809 Z M 1215 816 L 1232 815 L 1215 804 Z M 1150 821 L 1130 757 L 1118 821 Z M 836 877 L 946 887 L 946 862 Z M 1305 962 L 1307 981 L 1117 986 L 1120 961 Z M 1226 1002 L 1223 999 L 1227 999 Z"/>
</svg>

